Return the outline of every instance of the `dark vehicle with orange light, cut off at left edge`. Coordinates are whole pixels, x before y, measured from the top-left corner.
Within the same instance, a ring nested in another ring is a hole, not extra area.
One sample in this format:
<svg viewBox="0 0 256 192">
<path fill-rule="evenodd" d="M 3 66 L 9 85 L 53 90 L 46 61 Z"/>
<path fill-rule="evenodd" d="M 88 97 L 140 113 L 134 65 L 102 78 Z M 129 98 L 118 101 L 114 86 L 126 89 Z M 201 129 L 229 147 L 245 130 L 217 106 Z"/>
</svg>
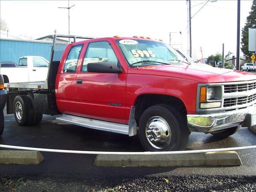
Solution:
<svg viewBox="0 0 256 192">
<path fill-rule="evenodd" d="M 0 75 L 0 135 L 4 131 L 4 106 L 7 100 L 7 92 L 4 90 L 4 78 Z"/>
</svg>

